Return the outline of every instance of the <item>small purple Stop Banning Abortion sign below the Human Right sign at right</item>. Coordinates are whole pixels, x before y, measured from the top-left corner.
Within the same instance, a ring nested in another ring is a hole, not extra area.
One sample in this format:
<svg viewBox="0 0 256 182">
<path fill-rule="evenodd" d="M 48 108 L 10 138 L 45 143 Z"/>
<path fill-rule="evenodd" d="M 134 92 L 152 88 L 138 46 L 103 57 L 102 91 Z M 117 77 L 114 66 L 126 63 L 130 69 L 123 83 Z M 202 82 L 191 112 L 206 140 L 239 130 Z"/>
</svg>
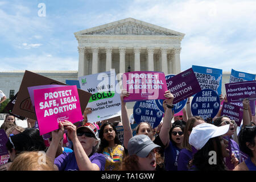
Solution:
<svg viewBox="0 0 256 182">
<path fill-rule="evenodd" d="M 224 102 L 222 106 L 221 115 L 225 115 L 230 120 L 236 121 L 237 126 L 240 126 L 243 118 L 243 110 L 242 107 L 240 106 Z"/>
</svg>

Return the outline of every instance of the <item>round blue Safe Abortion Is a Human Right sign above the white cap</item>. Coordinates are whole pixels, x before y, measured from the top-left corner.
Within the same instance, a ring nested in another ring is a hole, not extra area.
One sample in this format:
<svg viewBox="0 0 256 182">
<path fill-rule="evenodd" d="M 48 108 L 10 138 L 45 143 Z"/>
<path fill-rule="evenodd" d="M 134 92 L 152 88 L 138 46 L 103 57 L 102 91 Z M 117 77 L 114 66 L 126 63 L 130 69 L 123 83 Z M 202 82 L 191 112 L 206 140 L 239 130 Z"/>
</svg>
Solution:
<svg viewBox="0 0 256 182">
<path fill-rule="evenodd" d="M 212 89 L 204 89 L 197 93 L 191 102 L 191 112 L 204 120 L 214 118 L 220 109 L 220 98 Z"/>
</svg>

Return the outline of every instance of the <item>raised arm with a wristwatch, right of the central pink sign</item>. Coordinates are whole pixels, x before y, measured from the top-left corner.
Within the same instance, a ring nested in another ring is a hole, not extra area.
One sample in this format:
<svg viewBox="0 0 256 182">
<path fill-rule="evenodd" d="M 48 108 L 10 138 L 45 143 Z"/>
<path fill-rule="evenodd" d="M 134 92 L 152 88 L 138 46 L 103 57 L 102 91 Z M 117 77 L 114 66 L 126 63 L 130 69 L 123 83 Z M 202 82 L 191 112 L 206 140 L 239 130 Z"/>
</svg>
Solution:
<svg viewBox="0 0 256 182">
<path fill-rule="evenodd" d="M 159 137 L 164 146 L 168 147 L 170 143 L 169 131 L 172 127 L 172 117 L 174 117 L 174 113 L 172 109 L 170 109 L 169 107 L 173 106 L 172 102 L 174 101 L 174 96 L 168 90 L 165 92 L 164 97 L 167 98 L 165 100 L 167 102 L 167 107 L 164 112 L 163 126 L 162 129 L 160 130 Z"/>
</svg>

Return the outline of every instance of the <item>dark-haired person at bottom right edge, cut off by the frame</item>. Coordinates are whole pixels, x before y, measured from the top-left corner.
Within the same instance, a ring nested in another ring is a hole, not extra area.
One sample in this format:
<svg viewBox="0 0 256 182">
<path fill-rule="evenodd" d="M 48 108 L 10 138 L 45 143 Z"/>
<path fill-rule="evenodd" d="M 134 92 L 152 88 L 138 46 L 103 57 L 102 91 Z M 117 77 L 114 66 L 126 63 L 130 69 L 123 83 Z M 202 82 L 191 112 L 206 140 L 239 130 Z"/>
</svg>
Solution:
<svg viewBox="0 0 256 182">
<path fill-rule="evenodd" d="M 238 134 L 239 146 L 249 157 L 238 164 L 234 171 L 256 171 L 256 127 L 245 126 Z"/>
</svg>

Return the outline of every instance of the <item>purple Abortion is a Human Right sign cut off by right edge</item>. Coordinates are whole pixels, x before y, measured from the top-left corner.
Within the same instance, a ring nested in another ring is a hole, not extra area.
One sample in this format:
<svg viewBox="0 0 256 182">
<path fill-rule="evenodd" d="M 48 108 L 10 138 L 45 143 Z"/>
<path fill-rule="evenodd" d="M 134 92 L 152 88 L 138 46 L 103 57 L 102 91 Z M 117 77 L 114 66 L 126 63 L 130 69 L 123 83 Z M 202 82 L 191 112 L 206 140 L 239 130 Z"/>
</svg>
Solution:
<svg viewBox="0 0 256 182">
<path fill-rule="evenodd" d="M 256 100 L 256 81 L 225 84 L 228 102 L 240 102 L 245 98 Z"/>
</svg>

